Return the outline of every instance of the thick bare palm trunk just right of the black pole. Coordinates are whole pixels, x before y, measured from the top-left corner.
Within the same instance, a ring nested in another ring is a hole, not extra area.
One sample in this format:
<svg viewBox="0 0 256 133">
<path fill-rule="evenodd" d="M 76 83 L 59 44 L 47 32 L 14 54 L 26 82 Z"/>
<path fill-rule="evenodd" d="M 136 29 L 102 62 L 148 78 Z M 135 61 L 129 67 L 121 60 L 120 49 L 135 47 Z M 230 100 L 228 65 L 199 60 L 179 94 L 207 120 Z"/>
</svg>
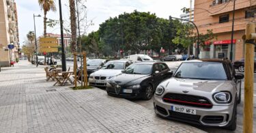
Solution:
<svg viewBox="0 0 256 133">
<path fill-rule="evenodd" d="M 70 25 L 71 25 L 71 46 L 72 52 L 76 52 L 76 6 L 74 0 L 70 1 Z"/>
</svg>

